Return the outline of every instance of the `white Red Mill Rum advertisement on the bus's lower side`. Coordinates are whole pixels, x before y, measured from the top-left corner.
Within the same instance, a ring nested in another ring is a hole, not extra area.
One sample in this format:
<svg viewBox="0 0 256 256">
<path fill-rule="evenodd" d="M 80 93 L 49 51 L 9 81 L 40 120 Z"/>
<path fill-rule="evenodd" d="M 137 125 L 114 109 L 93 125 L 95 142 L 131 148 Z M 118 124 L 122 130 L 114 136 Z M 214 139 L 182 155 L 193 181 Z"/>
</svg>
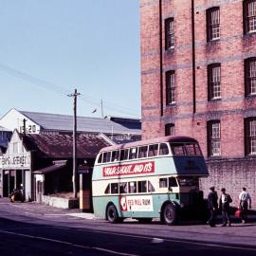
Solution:
<svg viewBox="0 0 256 256">
<path fill-rule="evenodd" d="M 153 211 L 152 195 L 130 195 L 120 197 L 121 211 Z"/>
</svg>

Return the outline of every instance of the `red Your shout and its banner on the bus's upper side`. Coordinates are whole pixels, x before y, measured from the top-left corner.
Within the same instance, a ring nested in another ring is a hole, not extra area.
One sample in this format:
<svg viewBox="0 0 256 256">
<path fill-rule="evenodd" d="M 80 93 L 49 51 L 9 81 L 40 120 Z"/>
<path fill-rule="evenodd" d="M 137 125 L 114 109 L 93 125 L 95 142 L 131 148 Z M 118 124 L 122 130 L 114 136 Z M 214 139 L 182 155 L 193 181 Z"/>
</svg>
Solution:
<svg viewBox="0 0 256 256">
<path fill-rule="evenodd" d="M 103 167 L 103 176 L 117 176 L 128 174 L 150 174 L 155 172 L 155 162 L 144 162 L 135 164 L 122 164 Z"/>
</svg>

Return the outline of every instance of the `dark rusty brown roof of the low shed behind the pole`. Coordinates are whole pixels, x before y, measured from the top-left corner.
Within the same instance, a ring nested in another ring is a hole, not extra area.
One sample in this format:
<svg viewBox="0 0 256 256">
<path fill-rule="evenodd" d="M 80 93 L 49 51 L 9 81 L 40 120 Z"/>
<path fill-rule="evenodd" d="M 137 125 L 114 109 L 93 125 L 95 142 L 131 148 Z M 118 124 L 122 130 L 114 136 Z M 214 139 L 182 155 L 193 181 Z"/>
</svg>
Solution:
<svg viewBox="0 0 256 256">
<path fill-rule="evenodd" d="M 72 135 L 27 134 L 23 142 L 28 151 L 36 151 L 43 157 L 71 158 L 73 156 Z M 95 158 L 101 148 L 109 146 L 103 138 L 97 136 L 77 136 L 77 156 Z"/>
</svg>

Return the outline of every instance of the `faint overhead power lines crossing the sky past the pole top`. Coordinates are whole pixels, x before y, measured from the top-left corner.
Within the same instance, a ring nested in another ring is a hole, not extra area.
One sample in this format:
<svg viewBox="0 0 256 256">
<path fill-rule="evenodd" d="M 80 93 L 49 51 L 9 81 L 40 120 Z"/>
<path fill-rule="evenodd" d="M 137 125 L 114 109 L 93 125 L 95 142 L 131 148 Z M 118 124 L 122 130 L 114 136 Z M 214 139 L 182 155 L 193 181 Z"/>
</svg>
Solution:
<svg viewBox="0 0 256 256">
<path fill-rule="evenodd" d="M 10 67 L 7 64 L 1 64 L 0 63 L 0 70 L 8 73 L 10 76 L 16 77 L 18 79 L 22 79 L 26 82 L 30 82 L 32 84 L 37 85 L 40 88 L 49 90 L 49 91 L 54 91 L 55 93 L 61 93 L 63 95 L 67 95 L 69 93 L 68 89 L 64 88 L 61 85 L 58 85 L 56 83 L 53 82 L 47 82 L 46 80 L 37 78 L 35 76 L 31 76 L 23 71 L 17 70 L 13 67 Z M 89 103 L 93 106 L 98 106 L 101 107 L 101 100 L 96 99 L 94 97 L 88 96 L 88 95 L 82 95 L 81 97 L 81 101 Z M 117 104 L 114 104 L 110 101 L 104 101 L 104 108 L 108 109 L 108 110 L 112 110 L 118 113 L 122 113 L 125 115 L 130 115 L 130 116 L 134 116 L 137 117 L 136 114 L 136 110 L 135 109 L 131 109 L 128 107 L 123 107 L 123 106 L 119 106 Z"/>
</svg>

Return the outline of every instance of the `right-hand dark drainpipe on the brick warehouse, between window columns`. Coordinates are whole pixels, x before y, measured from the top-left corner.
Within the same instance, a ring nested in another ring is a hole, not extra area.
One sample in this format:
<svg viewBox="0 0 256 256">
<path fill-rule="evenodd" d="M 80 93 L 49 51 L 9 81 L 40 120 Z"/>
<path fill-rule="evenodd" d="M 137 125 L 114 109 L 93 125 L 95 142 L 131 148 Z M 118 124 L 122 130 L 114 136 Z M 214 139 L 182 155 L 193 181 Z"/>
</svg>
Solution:
<svg viewBox="0 0 256 256">
<path fill-rule="evenodd" d="M 194 0 L 192 0 L 192 112 L 195 114 L 195 34 L 194 34 Z"/>
</svg>

